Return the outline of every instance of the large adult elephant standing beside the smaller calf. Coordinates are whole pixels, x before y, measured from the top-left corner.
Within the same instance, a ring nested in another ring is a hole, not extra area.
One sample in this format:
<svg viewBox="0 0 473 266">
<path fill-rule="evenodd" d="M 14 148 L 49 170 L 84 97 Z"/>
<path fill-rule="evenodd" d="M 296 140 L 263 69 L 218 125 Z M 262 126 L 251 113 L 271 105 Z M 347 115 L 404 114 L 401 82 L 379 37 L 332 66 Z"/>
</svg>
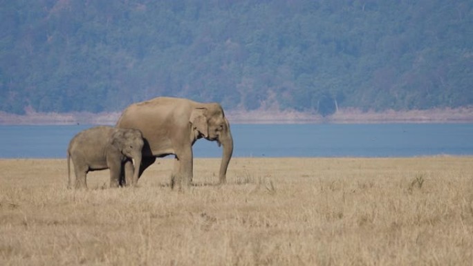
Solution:
<svg viewBox="0 0 473 266">
<path fill-rule="evenodd" d="M 179 187 L 183 184 L 189 187 L 193 174 L 192 145 L 204 137 L 223 146 L 219 182 L 226 182 L 227 167 L 233 153 L 233 139 L 230 124 L 220 104 L 157 97 L 128 106 L 116 126 L 139 129 L 143 134 L 145 146 L 142 149 L 140 176 L 156 158 L 174 154 L 171 188 L 176 183 Z M 125 180 L 129 180 L 132 173 L 133 166 L 126 164 Z"/>
</svg>

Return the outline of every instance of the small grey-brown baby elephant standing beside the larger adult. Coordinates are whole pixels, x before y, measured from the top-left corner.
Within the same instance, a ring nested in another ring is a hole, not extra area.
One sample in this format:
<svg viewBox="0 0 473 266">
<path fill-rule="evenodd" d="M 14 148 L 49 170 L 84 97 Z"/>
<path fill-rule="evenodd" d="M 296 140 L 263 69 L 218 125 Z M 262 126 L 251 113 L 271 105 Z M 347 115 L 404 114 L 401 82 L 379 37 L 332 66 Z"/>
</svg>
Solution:
<svg viewBox="0 0 473 266">
<path fill-rule="evenodd" d="M 141 150 L 144 141 L 138 129 L 116 129 L 111 126 L 95 126 L 77 133 L 67 149 L 68 187 L 71 187 L 71 158 L 75 171 L 75 188 L 87 187 L 89 171 L 110 169 L 110 187 L 120 185 L 124 162 L 133 162 L 132 184 L 138 182 Z"/>
</svg>

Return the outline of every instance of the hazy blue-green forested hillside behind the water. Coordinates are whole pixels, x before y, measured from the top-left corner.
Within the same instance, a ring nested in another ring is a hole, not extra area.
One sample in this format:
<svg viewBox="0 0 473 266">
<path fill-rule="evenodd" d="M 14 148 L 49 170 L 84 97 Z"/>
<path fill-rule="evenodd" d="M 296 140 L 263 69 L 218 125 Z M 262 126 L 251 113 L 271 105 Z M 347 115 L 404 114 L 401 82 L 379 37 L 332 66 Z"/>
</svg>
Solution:
<svg viewBox="0 0 473 266">
<path fill-rule="evenodd" d="M 473 104 L 473 1 L 0 1 L 0 111 Z"/>
</svg>

